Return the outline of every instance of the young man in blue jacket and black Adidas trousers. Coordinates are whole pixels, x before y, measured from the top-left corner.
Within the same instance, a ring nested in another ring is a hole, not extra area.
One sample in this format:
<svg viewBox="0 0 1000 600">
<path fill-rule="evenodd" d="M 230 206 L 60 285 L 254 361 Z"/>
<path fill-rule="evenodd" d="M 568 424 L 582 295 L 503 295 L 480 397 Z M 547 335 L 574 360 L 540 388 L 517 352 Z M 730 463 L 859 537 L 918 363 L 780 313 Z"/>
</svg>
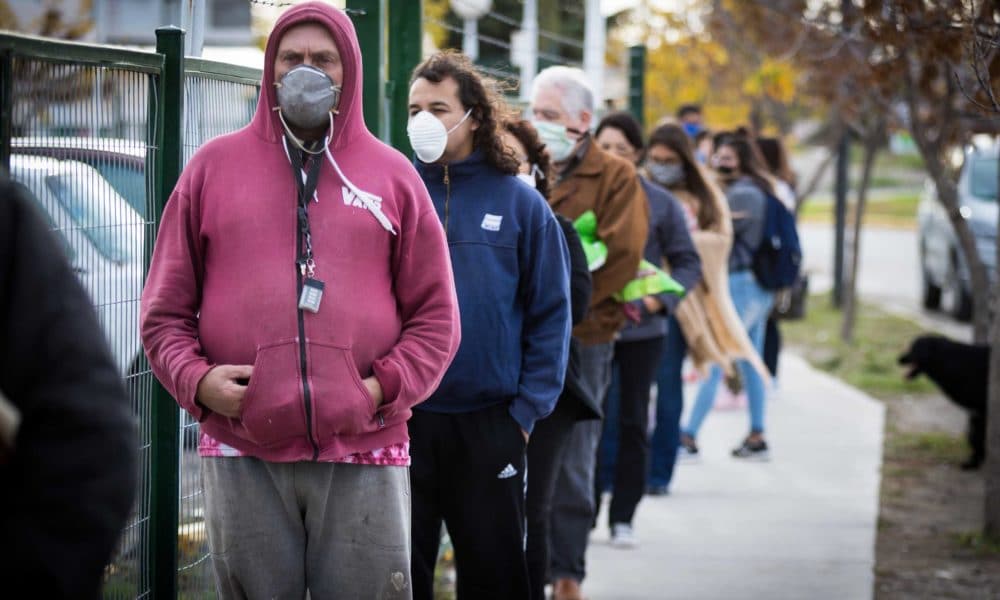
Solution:
<svg viewBox="0 0 1000 600">
<path fill-rule="evenodd" d="M 409 422 L 414 598 L 433 596 L 444 521 L 459 598 L 526 598 L 525 449 L 562 389 L 569 252 L 541 195 L 519 181 L 501 105 L 468 58 L 414 71 L 408 134 L 451 251 L 465 335 Z"/>
</svg>

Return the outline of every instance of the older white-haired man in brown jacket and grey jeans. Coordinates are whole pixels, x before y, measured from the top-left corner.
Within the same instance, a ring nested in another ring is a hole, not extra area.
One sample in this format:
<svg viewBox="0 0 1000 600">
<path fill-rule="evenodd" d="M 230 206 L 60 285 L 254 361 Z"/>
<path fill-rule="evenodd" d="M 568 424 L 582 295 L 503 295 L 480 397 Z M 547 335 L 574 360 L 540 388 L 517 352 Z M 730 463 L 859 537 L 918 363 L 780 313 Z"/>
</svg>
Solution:
<svg viewBox="0 0 1000 600">
<path fill-rule="evenodd" d="M 586 319 L 573 329 L 579 360 L 566 374 L 566 392 L 600 415 L 611 381 L 614 339 L 626 318 L 614 296 L 635 277 L 642 259 L 646 200 L 632 164 L 604 152 L 590 136 L 594 92 L 583 71 L 549 67 L 535 78 L 531 97 L 533 123 L 557 172 L 549 204 L 592 242 L 593 295 Z M 550 515 L 549 575 L 557 600 L 582 597 L 600 435 L 600 420 L 579 421 L 560 449 L 564 457 L 557 461 L 561 468 Z"/>
</svg>

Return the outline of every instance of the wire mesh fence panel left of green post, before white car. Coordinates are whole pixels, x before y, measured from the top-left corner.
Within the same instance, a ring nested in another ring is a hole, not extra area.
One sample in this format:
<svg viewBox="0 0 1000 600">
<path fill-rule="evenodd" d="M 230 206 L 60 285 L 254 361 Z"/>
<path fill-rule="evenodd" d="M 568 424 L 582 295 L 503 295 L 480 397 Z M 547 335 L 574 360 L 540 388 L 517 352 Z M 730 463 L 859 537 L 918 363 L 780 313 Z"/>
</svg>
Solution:
<svg viewBox="0 0 1000 600">
<path fill-rule="evenodd" d="M 97 310 L 139 423 L 140 487 L 105 597 L 142 598 L 148 557 L 153 379 L 139 341 L 147 244 L 155 235 L 147 160 L 147 69 L 10 56 L 10 174 L 56 232 Z M 152 108 L 155 110 L 155 107 Z"/>
</svg>

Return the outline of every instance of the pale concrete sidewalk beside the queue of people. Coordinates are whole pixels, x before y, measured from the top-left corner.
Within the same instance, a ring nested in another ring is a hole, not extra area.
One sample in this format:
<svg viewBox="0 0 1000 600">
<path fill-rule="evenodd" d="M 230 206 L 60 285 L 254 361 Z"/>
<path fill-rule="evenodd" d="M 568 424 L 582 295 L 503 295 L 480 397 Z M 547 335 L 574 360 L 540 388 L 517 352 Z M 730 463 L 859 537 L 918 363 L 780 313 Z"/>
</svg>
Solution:
<svg viewBox="0 0 1000 600">
<path fill-rule="evenodd" d="M 678 464 L 670 496 L 640 503 L 637 548 L 609 545 L 604 502 L 588 598 L 871 597 L 883 405 L 788 353 L 771 398 L 771 461 L 731 458 L 747 411 L 713 410 L 700 461 Z"/>
</svg>

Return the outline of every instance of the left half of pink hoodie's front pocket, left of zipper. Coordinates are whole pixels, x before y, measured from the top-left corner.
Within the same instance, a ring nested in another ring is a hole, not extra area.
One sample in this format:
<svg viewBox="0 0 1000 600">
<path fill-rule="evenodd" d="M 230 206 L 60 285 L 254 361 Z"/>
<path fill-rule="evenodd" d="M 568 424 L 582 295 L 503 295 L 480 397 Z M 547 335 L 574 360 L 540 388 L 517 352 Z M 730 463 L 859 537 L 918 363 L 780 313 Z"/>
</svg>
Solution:
<svg viewBox="0 0 1000 600">
<path fill-rule="evenodd" d="M 296 340 L 257 348 L 240 414 L 239 424 L 244 431 L 236 431 L 237 435 L 265 447 L 306 435 L 299 372 Z"/>
</svg>

